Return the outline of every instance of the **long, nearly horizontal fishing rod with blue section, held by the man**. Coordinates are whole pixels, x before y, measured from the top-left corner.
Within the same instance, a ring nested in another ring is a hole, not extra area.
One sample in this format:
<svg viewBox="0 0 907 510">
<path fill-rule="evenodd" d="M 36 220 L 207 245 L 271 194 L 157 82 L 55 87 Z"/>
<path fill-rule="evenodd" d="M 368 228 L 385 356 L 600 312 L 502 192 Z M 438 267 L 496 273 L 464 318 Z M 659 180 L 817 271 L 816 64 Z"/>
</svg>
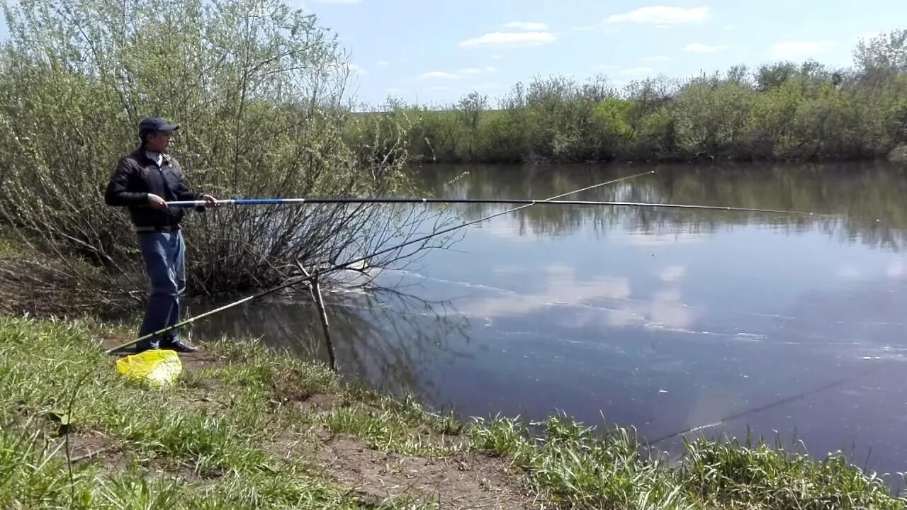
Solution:
<svg viewBox="0 0 907 510">
<path fill-rule="evenodd" d="M 585 205 L 585 206 L 617 206 L 617 207 L 653 207 L 667 209 L 699 209 L 714 211 L 741 211 L 763 212 L 773 214 L 794 214 L 824 218 L 837 218 L 840 215 L 821 214 L 809 211 L 781 211 L 776 209 L 756 209 L 748 207 L 727 207 L 720 205 L 695 205 L 677 203 L 655 203 L 639 201 L 564 201 L 564 200 L 533 200 L 533 199 L 438 199 L 438 198 L 298 198 L 298 199 L 225 199 L 216 201 L 218 205 L 291 205 L 291 204 L 318 204 L 318 203 L 487 203 L 487 204 L 550 204 L 550 205 Z M 174 207 L 205 207 L 207 201 L 169 201 L 167 205 Z"/>
</svg>

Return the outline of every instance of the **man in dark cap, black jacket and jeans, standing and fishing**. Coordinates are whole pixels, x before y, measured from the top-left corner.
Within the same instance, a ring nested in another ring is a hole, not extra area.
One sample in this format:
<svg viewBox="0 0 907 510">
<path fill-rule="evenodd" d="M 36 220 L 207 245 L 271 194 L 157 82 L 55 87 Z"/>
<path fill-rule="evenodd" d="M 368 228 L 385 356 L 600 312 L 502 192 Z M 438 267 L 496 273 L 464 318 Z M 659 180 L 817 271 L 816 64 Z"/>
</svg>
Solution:
<svg viewBox="0 0 907 510">
<path fill-rule="evenodd" d="M 189 191 L 180 162 L 167 153 L 172 132 L 178 129 L 178 125 L 160 117 L 142 119 L 140 146 L 120 159 L 104 193 L 107 205 L 129 208 L 151 280 L 140 337 L 180 322 L 180 296 L 186 290 L 185 246 L 180 231 L 184 210 L 168 207 L 166 202 L 203 200 L 211 207 L 218 206 L 210 194 Z M 150 348 L 198 350 L 180 340 L 176 329 L 140 342 L 136 352 Z"/>
</svg>

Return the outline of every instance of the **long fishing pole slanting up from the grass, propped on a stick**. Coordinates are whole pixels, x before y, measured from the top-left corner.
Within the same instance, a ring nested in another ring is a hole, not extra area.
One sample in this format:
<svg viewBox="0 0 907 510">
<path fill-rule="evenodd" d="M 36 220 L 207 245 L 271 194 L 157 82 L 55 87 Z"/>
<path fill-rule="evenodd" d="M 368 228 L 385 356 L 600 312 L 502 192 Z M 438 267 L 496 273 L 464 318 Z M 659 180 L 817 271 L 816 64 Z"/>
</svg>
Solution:
<svg viewBox="0 0 907 510">
<path fill-rule="evenodd" d="M 162 334 L 164 334 L 164 333 L 167 333 L 167 332 L 169 332 L 169 331 L 172 331 L 173 329 L 178 329 L 178 328 L 181 328 L 181 327 L 183 327 L 183 326 L 189 325 L 189 324 L 191 324 L 192 322 L 195 322 L 196 320 L 200 320 L 200 319 L 204 319 L 204 318 L 206 318 L 206 317 L 210 317 L 211 315 L 217 314 L 217 313 L 219 313 L 219 312 L 221 312 L 221 311 L 223 311 L 223 310 L 231 309 L 231 308 L 236 307 L 236 306 L 239 306 L 239 305 L 241 305 L 241 304 L 243 304 L 243 303 L 249 302 L 249 301 L 251 301 L 251 300 L 253 300 L 253 299 L 263 298 L 263 297 L 267 296 L 268 294 L 272 294 L 272 293 L 274 293 L 274 292 L 277 292 L 278 290 L 286 289 L 286 288 L 288 288 L 288 287 L 290 287 L 290 286 L 297 285 L 298 283 L 302 283 L 303 281 L 312 280 L 312 279 L 317 278 L 318 276 L 320 276 L 320 275 L 322 275 L 322 274 L 325 274 L 325 273 L 327 273 L 327 272 L 332 272 L 332 271 L 335 271 L 335 270 L 342 270 L 342 269 L 345 269 L 345 268 L 347 268 L 347 267 L 349 267 L 349 266 L 352 266 L 353 264 L 357 264 L 357 263 L 359 263 L 359 262 L 363 262 L 363 261 L 372 259 L 372 258 L 374 258 L 374 257 L 377 257 L 377 256 L 379 256 L 379 255 L 383 255 L 383 254 L 385 254 L 385 253 L 388 253 L 388 252 L 391 252 L 391 251 L 394 251 L 394 250 L 399 250 L 399 249 L 401 249 L 401 248 L 404 248 L 405 246 L 409 246 L 409 245 L 415 244 L 415 243 L 417 243 L 417 242 L 422 242 L 422 241 L 424 241 L 424 240 L 429 240 L 429 239 L 431 239 L 431 238 L 433 238 L 433 237 L 435 237 L 435 236 L 439 236 L 439 235 L 443 235 L 443 234 L 452 232 L 453 230 L 463 229 L 463 228 L 465 228 L 465 227 L 468 227 L 468 226 L 470 226 L 470 225 L 474 225 L 474 224 L 479 223 L 479 222 L 482 222 L 482 221 L 492 220 L 493 218 L 497 218 L 498 216 L 502 216 L 502 215 L 504 215 L 504 214 L 508 214 L 508 213 L 514 212 L 514 211 L 520 211 L 521 209 L 525 209 L 525 208 L 527 208 L 527 207 L 532 207 L 533 205 L 536 205 L 536 204 L 539 204 L 539 203 L 544 203 L 544 202 L 547 202 L 547 201 L 554 201 L 554 200 L 560 199 L 561 197 L 565 197 L 565 196 L 567 196 L 567 195 L 571 195 L 571 194 L 574 194 L 574 193 L 579 193 L 579 192 L 581 192 L 581 191 L 589 191 L 589 190 L 592 190 L 592 189 L 595 189 L 595 188 L 600 188 L 601 186 L 607 186 L 607 185 L 609 185 L 609 184 L 614 184 L 614 183 L 619 182 L 619 181 L 627 181 L 627 180 L 629 180 L 629 179 L 634 179 L 634 178 L 636 178 L 636 177 L 641 177 L 641 176 L 643 176 L 643 175 L 650 175 L 650 174 L 652 174 L 652 173 L 655 173 L 655 171 L 653 170 L 653 171 L 650 171 L 650 172 L 636 173 L 636 174 L 633 174 L 633 175 L 628 175 L 628 176 L 626 176 L 626 177 L 619 177 L 618 179 L 613 179 L 613 180 L 611 180 L 611 181 L 605 181 L 605 182 L 600 182 L 600 183 L 598 183 L 598 184 L 592 184 L 591 186 L 587 186 L 587 187 L 585 187 L 585 188 L 580 188 L 579 190 L 567 191 L 566 193 L 561 193 L 560 195 L 555 195 L 555 196 L 550 197 L 550 198 L 545 199 L 545 200 L 541 200 L 541 201 L 532 201 L 532 203 L 527 203 L 526 205 L 521 205 L 520 207 L 515 207 L 515 208 L 512 208 L 512 209 L 508 209 L 508 210 L 506 210 L 506 211 L 497 212 L 497 213 L 492 214 L 492 215 L 490 215 L 490 216 L 485 216 L 485 217 L 483 217 L 483 218 L 479 218 L 478 220 L 467 221 L 467 222 L 461 223 L 461 224 L 459 224 L 459 225 L 454 225 L 453 227 L 450 227 L 450 228 L 447 228 L 447 229 L 444 229 L 444 230 L 440 230 L 440 231 L 437 231 L 437 232 L 433 232 L 433 233 L 424 235 L 424 236 L 422 236 L 422 237 L 420 237 L 420 238 L 417 238 L 417 239 L 414 239 L 414 240 L 408 240 L 408 241 L 405 241 L 405 242 L 403 242 L 403 243 L 400 243 L 400 244 L 397 244 L 397 245 L 395 245 L 395 246 L 392 246 L 392 247 L 390 247 L 390 248 L 385 248 L 384 250 L 375 251 L 374 253 L 370 253 L 370 254 L 368 254 L 368 255 L 366 255 L 366 256 L 364 256 L 364 257 L 360 257 L 360 258 L 355 259 L 355 260 L 349 260 L 349 261 L 343 262 L 343 263 L 341 263 L 341 264 L 336 264 L 336 265 L 334 265 L 334 266 L 331 266 L 331 267 L 328 268 L 327 270 L 316 270 L 315 272 L 310 273 L 310 274 L 308 274 L 307 276 L 299 277 L 299 278 L 296 278 L 296 279 L 290 279 L 290 280 L 288 280 L 288 281 L 286 281 L 286 282 L 284 282 L 284 283 L 278 285 L 277 287 L 274 287 L 274 288 L 271 288 L 271 289 L 267 289 L 267 290 L 262 290 L 262 291 L 258 292 L 257 294 L 253 294 L 253 295 L 248 296 L 248 297 L 246 297 L 246 298 L 239 299 L 239 300 L 237 300 L 237 301 L 234 301 L 234 302 L 232 302 L 232 303 L 229 303 L 229 304 L 224 305 L 224 306 L 222 306 L 222 307 L 219 307 L 219 308 L 217 308 L 217 309 L 212 309 L 212 310 L 210 310 L 210 311 L 207 311 L 207 312 L 205 312 L 205 313 L 202 313 L 202 314 L 200 314 L 200 315 L 197 315 L 197 316 L 195 316 L 195 317 L 193 317 L 193 318 L 191 318 L 191 319 L 183 320 L 183 321 L 181 321 L 181 322 L 179 322 L 179 323 L 177 323 L 177 324 L 174 324 L 174 325 L 172 325 L 172 326 L 169 326 L 169 327 L 167 327 L 167 328 L 159 329 L 159 330 L 154 331 L 153 333 L 149 333 L 149 334 L 147 334 L 147 335 L 145 335 L 145 336 L 143 336 L 143 337 L 136 338 L 136 339 L 132 340 L 131 342 L 124 343 L 124 344 L 119 345 L 119 346 L 116 346 L 116 347 L 114 347 L 114 348 L 109 348 L 109 349 L 107 349 L 107 351 L 105 351 L 105 352 L 106 352 L 106 354 L 112 354 L 112 353 L 114 353 L 114 352 L 116 352 L 116 351 L 118 351 L 118 350 L 120 350 L 120 349 L 122 349 L 122 348 L 127 348 L 127 347 L 130 347 L 130 346 L 133 346 L 133 345 L 135 345 L 135 344 L 137 344 L 137 343 L 139 343 L 139 342 L 141 342 L 141 341 L 143 341 L 143 340 L 146 340 L 146 339 L 149 339 L 149 338 L 153 338 L 153 337 L 156 337 L 156 336 L 158 336 L 158 335 L 162 335 Z M 276 200 L 279 200 L 279 199 L 276 199 Z M 171 203 L 172 203 L 172 202 L 171 202 Z M 203 203 L 207 203 L 207 202 L 203 202 Z"/>
</svg>

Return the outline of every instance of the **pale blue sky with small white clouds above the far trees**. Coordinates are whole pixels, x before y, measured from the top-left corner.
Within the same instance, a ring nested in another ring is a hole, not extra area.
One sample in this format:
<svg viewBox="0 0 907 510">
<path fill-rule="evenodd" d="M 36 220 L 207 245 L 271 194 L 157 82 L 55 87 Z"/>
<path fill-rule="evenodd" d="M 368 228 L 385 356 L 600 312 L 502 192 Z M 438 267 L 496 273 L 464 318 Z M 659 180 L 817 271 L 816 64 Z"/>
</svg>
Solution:
<svg viewBox="0 0 907 510">
<path fill-rule="evenodd" d="M 551 75 L 621 86 L 777 60 L 847 66 L 860 37 L 907 28 L 904 0 L 288 1 L 337 34 L 351 98 L 371 106 L 472 91 L 495 104 L 514 83 Z"/>
</svg>

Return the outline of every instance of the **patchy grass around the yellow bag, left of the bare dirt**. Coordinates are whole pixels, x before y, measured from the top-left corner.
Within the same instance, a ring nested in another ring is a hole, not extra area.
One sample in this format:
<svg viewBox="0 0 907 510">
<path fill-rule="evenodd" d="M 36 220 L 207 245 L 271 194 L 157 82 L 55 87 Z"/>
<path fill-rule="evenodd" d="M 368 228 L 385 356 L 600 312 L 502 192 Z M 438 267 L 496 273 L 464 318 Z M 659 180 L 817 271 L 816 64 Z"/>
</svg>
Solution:
<svg viewBox="0 0 907 510">
<path fill-rule="evenodd" d="M 325 368 L 270 358 L 249 344 L 221 346 L 222 356 L 237 361 L 186 372 L 168 391 L 148 390 L 115 372 L 92 329 L 83 322 L 0 319 L 0 507 L 71 508 L 71 493 L 75 508 L 361 507 L 305 458 L 288 459 L 271 447 L 280 437 L 311 440 L 307 430 L 317 426 L 316 417 L 275 412 L 269 404 L 275 385 L 295 374 L 311 390 L 337 390 Z M 123 466 L 77 466 L 71 484 L 58 419 L 71 386 L 92 368 L 100 369 L 80 388 L 71 425 L 76 436 L 109 438 Z M 193 397 L 202 383 L 217 387 L 204 393 L 222 405 L 198 405 Z M 154 468 L 163 476 L 153 476 Z"/>
</svg>

